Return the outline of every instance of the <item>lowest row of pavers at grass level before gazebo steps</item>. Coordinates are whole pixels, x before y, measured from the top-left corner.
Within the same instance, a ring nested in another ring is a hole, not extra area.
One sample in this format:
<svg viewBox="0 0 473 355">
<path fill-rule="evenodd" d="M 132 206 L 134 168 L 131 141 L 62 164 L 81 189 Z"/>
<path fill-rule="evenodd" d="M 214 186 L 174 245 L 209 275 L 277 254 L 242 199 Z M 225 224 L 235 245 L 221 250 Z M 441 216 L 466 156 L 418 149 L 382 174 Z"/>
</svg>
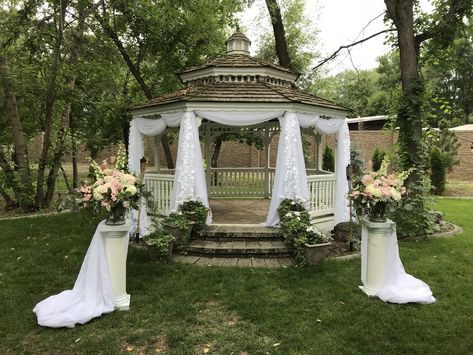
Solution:
<svg viewBox="0 0 473 355">
<path fill-rule="evenodd" d="M 245 268 L 286 268 L 294 265 L 294 260 L 282 258 L 221 258 L 194 255 L 176 255 L 173 260 L 178 263 L 199 266 L 237 266 Z"/>
</svg>

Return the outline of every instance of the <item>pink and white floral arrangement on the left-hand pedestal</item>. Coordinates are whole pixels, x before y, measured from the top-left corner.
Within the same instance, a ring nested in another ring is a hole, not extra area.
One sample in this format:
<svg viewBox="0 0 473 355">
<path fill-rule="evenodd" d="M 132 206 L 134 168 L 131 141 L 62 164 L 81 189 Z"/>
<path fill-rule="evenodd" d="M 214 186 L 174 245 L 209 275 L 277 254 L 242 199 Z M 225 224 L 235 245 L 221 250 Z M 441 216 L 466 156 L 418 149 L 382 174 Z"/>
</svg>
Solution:
<svg viewBox="0 0 473 355">
<path fill-rule="evenodd" d="M 117 157 L 103 160 L 100 165 L 92 161 L 90 174 L 80 188 L 84 207 L 107 211 L 108 224 L 124 223 L 126 209 L 137 209 L 141 198 L 143 185 L 135 175 L 128 173 L 125 154 L 120 146 Z"/>
</svg>

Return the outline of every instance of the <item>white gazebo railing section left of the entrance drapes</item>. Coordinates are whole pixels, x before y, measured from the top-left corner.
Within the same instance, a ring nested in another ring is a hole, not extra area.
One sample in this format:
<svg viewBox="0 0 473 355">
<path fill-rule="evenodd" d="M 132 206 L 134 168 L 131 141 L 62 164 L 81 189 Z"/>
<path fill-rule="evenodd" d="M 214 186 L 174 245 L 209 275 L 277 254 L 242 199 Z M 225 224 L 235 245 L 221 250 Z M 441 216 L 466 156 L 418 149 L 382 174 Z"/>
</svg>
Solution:
<svg viewBox="0 0 473 355">
<path fill-rule="evenodd" d="M 174 175 L 146 173 L 144 176 L 146 191 L 152 195 L 153 210 L 162 215 L 169 214 L 171 191 L 174 186 Z"/>
</svg>

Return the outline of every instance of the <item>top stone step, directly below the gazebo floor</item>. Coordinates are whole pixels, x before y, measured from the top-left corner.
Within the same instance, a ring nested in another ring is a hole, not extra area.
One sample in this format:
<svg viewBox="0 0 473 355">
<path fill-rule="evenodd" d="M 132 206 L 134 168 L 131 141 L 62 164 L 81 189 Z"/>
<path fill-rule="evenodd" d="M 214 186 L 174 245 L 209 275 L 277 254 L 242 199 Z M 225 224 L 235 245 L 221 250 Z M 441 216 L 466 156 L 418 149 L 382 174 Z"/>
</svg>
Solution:
<svg viewBox="0 0 473 355">
<path fill-rule="evenodd" d="M 259 224 L 212 224 L 200 231 L 199 237 L 217 241 L 283 240 L 279 228 Z"/>
</svg>

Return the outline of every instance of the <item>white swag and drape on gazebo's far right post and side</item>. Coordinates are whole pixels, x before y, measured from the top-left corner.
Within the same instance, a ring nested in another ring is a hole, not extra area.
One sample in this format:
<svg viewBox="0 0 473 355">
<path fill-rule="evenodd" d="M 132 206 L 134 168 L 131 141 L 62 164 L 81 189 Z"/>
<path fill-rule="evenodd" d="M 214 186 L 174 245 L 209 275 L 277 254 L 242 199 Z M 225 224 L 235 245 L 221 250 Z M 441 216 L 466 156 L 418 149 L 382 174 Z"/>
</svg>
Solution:
<svg viewBox="0 0 473 355">
<path fill-rule="evenodd" d="M 337 134 L 334 224 L 349 220 L 348 182 L 346 167 L 350 164 L 350 133 L 345 118 L 323 119 L 320 116 L 297 113 L 302 128 L 313 127 L 320 134 Z"/>
</svg>

